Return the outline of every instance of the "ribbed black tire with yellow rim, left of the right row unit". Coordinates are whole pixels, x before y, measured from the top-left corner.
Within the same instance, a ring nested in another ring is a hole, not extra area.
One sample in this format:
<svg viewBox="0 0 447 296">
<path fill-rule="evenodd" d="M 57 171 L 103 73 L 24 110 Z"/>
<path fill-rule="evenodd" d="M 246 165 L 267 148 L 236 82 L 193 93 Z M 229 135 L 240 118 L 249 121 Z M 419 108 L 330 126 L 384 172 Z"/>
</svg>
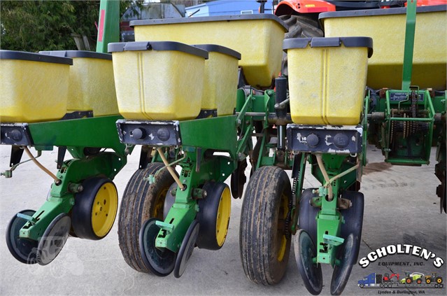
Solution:
<svg viewBox="0 0 447 296">
<path fill-rule="evenodd" d="M 291 196 L 288 175 L 278 167 L 261 167 L 248 181 L 239 248 L 243 271 L 254 283 L 267 286 L 283 279 L 290 253 L 286 230 Z"/>
</svg>

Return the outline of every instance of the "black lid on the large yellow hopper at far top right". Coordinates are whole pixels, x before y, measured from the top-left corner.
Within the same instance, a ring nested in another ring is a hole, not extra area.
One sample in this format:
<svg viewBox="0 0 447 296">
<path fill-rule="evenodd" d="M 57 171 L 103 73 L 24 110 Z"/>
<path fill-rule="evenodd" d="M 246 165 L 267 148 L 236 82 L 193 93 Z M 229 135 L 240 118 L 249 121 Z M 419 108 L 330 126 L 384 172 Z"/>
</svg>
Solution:
<svg viewBox="0 0 447 296">
<path fill-rule="evenodd" d="M 416 13 L 432 13 L 435 11 L 446 11 L 447 5 L 418 6 Z M 367 9 L 367 10 L 346 10 L 331 11 L 329 13 L 320 13 L 318 20 L 324 22 L 325 18 L 330 17 L 361 17 L 367 15 L 404 15 L 406 7 L 387 8 L 387 9 Z"/>
</svg>

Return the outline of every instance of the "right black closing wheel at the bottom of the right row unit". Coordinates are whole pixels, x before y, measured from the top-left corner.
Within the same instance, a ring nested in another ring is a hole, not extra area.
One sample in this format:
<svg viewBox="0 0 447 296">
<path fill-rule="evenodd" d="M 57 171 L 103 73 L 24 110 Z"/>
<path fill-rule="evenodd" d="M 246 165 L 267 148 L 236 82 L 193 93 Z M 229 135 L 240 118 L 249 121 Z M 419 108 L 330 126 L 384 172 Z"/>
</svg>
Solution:
<svg viewBox="0 0 447 296">
<path fill-rule="evenodd" d="M 357 261 L 355 246 L 360 244 L 355 241 L 357 239 L 358 238 L 351 233 L 345 239 L 343 245 L 339 247 L 336 258 L 340 262 L 339 265 L 334 266 L 334 272 L 332 272 L 331 295 L 340 295 L 343 292 L 346 283 L 348 283 L 350 272 Z"/>
</svg>

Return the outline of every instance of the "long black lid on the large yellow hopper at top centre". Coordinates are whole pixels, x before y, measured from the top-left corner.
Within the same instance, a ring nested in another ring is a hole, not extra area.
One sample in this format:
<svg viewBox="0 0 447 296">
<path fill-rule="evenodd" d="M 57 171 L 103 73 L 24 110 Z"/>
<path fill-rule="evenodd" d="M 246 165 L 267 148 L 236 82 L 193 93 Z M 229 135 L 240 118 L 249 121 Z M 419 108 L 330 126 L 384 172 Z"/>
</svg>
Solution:
<svg viewBox="0 0 447 296">
<path fill-rule="evenodd" d="M 131 20 L 129 25 L 134 26 L 148 26 L 151 24 L 185 24 L 191 22 L 222 22 L 233 20 L 274 20 L 281 24 L 285 30 L 288 31 L 289 27 L 276 15 L 269 13 L 258 13 L 255 15 L 218 15 L 211 17 L 176 17 L 176 18 L 162 18 L 154 20 Z"/>
</svg>

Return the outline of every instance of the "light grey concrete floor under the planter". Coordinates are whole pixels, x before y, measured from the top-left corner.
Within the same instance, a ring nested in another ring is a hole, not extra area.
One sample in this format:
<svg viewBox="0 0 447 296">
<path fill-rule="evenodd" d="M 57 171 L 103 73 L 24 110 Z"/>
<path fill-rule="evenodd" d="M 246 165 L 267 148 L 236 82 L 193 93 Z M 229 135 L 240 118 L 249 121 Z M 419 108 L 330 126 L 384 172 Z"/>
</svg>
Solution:
<svg viewBox="0 0 447 296">
<path fill-rule="evenodd" d="M 369 148 L 369 165 L 364 169 L 362 192 L 365 196 L 364 227 L 360 258 L 371 250 L 391 244 L 414 244 L 447 260 L 446 215 L 439 213 L 435 189 L 439 181 L 432 163 L 425 167 L 392 167 L 383 162 L 381 152 Z M 55 171 L 55 151 L 45 152 L 41 162 Z M 120 196 L 138 167 L 139 149 L 115 178 Z M 9 146 L 0 147 L 0 170 L 8 168 Z M 140 274 L 122 259 L 118 246 L 118 225 L 101 241 L 70 238 L 59 256 L 47 266 L 24 265 L 10 255 L 5 242 L 8 221 L 22 209 L 38 209 L 45 200 L 51 179 L 28 162 L 18 167 L 13 178 L 0 178 L 0 295 L 309 295 L 299 276 L 294 252 L 288 271 L 276 286 L 257 286 L 246 279 L 239 256 L 241 200 L 232 200 L 229 234 L 220 251 L 195 249 L 180 279 L 173 275 L 157 278 Z M 316 186 L 312 176 L 305 187 Z M 292 245 L 293 250 L 293 245 Z M 388 266 L 409 262 L 409 266 Z M 372 272 L 438 272 L 446 279 L 447 262 L 439 269 L 431 260 L 411 255 L 390 255 L 362 269 L 353 267 L 343 295 L 420 293 L 446 295 L 443 289 L 360 289 L 357 281 Z M 324 287 L 329 295 L 332 268 L 323 268 Z M 444 282 L 445 284 L 445 282 Z"/>
</svg>

